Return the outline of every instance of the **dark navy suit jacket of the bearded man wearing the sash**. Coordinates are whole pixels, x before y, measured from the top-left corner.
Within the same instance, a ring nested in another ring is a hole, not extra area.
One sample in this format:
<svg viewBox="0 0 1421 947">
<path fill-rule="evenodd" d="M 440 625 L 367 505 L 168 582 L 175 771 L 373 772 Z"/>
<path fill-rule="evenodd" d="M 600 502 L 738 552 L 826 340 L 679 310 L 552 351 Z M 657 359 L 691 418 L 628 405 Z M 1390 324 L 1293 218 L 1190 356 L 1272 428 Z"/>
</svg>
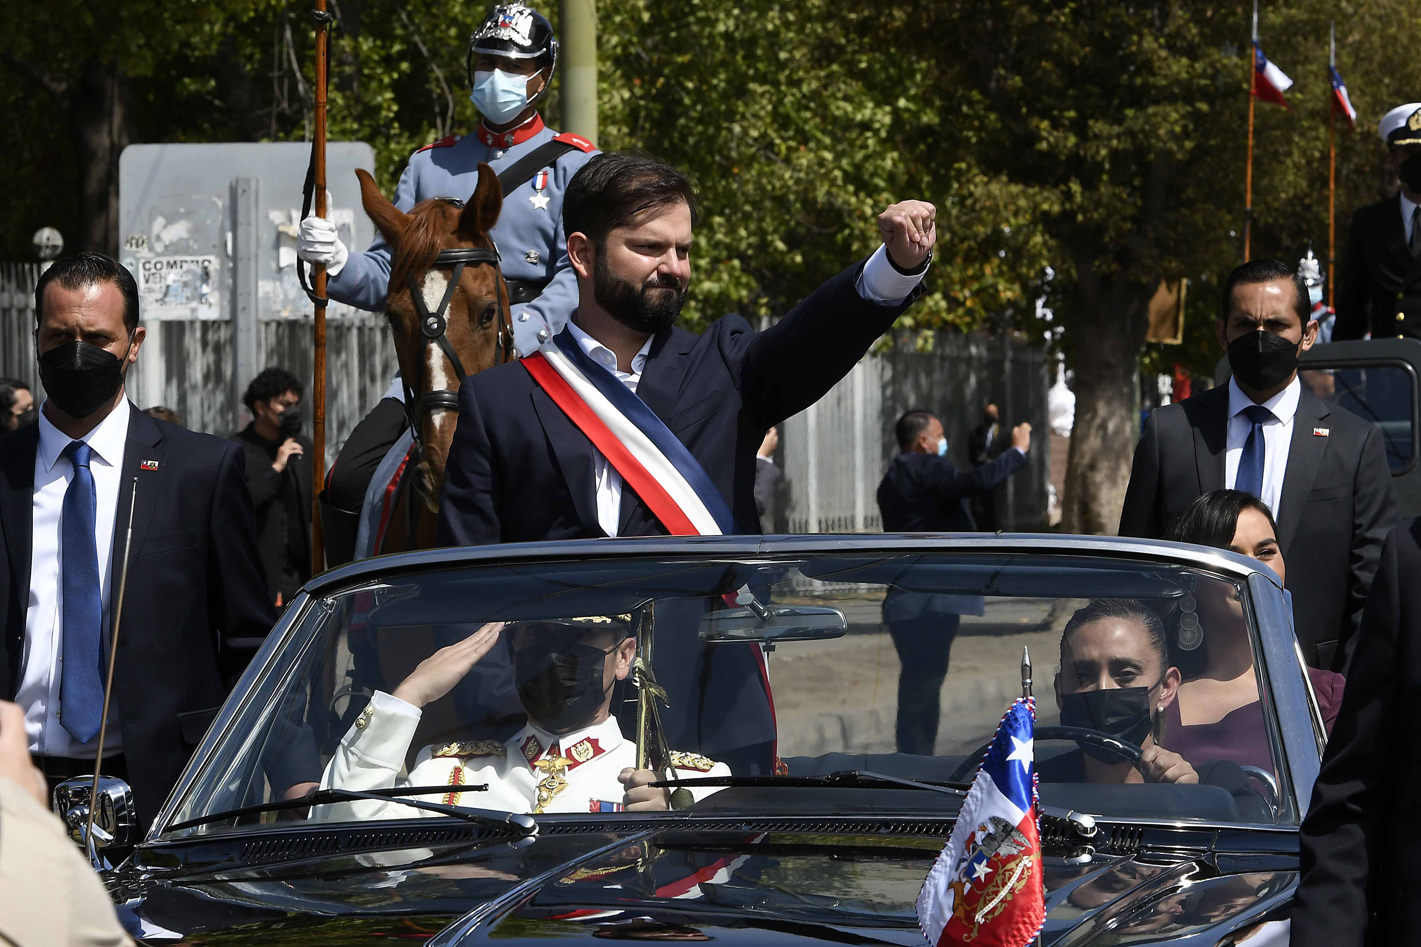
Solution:
<svg viewBox="0 0 1421 947">
<path fill-rule="evenodd" d="M 759 532 L 755 451 L 764 432 L 828 392 L 921 290 L 897 305 L 858 295 L 863 263 L 763 332 L 725 315 L 703 335 L 655 335 L 637 395 L 705 467 L 742 532 Z M 439 503 L 442 545 L 605 535 L 597 524 L 593 443 L 522 365 L 459 386 L 459 427 Z M 622 486 L 618 535 L 666 530 Z"/>
</svg>

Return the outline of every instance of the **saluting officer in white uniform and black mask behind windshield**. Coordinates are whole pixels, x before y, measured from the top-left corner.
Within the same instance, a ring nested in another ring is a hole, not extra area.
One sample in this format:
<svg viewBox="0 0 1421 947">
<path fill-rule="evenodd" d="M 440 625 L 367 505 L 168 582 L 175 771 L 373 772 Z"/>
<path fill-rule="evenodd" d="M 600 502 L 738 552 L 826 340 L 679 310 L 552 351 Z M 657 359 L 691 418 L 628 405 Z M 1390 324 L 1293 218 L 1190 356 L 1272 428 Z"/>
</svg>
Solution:
<svg viewBox="0 0 1421 947">
<path fill-rule="evenodd" d="M 394 694 L 375 691 L 341 740 L 325 768 L 321 788 L 388 789 L 448 787 L 438 797 L 416 797 L 446 805 L 507 812 L 621 812 L 668 808 L 669 792 L 648 782 L 664 775 L 637 770 L 637 747 L 611 716 L 614 684 L 631 673 L 637 642 L 631 618 L 587 616 L 556 622 L 523 622 L 509 629 L 513 676 L 529 723 L 507 741 L 450 741 L 419 751 L 408 777 L 405 757 L 422 708 L 439 700 L 485 655 L 500 643 L 503 623 L 485 625 L 462 642 L 422 662 Z M 672 751 L 682 778 L 729 775 L 723 762 Z M 486 792 L 459 787 L 487 784 Z M 686 787 L 696 799 L 716 787 Z M 409 818 L 399 802 L 360 799 L 321 805 L 311 818 L 358 821 Z"/>
</svg>

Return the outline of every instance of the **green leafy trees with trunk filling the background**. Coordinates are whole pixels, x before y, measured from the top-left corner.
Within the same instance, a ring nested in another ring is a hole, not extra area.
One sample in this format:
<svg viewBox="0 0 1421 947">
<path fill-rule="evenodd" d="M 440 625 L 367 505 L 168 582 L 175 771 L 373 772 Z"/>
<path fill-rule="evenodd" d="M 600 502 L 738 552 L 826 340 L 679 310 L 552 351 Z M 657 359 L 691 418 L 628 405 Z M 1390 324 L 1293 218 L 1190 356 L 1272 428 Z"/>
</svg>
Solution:
<svg viewBox="0 0 1421 947">
<path fill-rule="evenodd" d="M 389 189 L 411 150 L 477 121 L 465 50 L 487 7 L 331 6 L 331 138 L 371 142 Z M 304 139 L 308 7 L 0 6 L 3 253 L 27 256 L 43 224 L 71 246 L 117 239 L 95 224 L 109 182 L 94 168 L 117 168 L 104 128 L 118 148 Z M 598 14 L 598 143 L 662 155 L 703 192 L 688 321 L 783 312 L 875 246 L 884 204 L 931 200 L 929 291 L 901 325 L 1039 336 L 1044 300 L 1077 371 L 1066 522 L 1113 531 L 1141 359 L 1208 373 L 1218 355 L 1216 287 L 1241 258 L 1249 4 L 603 0 Z M 1421 0 L 1265 0 L 1263 45 L 1297 85 L 1292 111 L 1258 106 L 1256 257 L 1292 261 L 1309 240 L 1326 257 L 1330 18 L 1360 112 L 1337 135 L 1339 256 L 1350 210 L 1394 187 L 1374 128 L 1418 98 Z M 556 124 L 557 87 L 546 111 Z M 1144 304 L 1179 277 L 1185 345 L 1147 346 Z"/>
</svg>

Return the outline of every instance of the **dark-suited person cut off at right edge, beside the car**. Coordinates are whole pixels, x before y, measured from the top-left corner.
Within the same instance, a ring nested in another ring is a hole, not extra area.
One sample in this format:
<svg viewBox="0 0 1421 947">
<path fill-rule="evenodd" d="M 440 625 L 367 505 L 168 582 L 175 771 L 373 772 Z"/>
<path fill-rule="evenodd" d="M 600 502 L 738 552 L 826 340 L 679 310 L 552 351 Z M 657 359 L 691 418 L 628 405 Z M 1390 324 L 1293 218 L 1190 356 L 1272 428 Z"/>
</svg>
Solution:
<svg viewBox="0 0 1421 947">
<path fill-rule="evenodd" d="M 1381 549 L 1302 829 L 1293 947 L 1421 943 L 1421 521 Z M 1296 593 L 1295 593 L 1296 595 Z"/>
</svg>

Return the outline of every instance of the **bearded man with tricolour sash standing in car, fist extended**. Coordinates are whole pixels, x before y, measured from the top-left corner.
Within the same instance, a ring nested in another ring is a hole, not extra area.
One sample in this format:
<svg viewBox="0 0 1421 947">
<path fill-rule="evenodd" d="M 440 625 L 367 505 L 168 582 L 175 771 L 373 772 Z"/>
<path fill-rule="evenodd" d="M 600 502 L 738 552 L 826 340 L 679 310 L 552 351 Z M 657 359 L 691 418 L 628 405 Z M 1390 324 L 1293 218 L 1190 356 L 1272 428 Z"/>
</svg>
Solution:
<svg viewBox="0 0 1421 947">
<path fill-rule="evenodd" d="M 884 246 L 769 329 L 725 315 L 699 336 L 675 327 L 698 212 L 691 180 L 649 155 L 598 155 L 573 177 L 563 226 L 578 308 L 539 352 L 459 388 L 439 542 L 760 531 L 764 432 L 828 392 L 919 295 L 936 210 L 884 210 Z M 699 612 L 684 618 L 693 628 Z M 702 703 L 671 708 L 672 741 L 736 772 L 773 765 L 759 649 L 674 650 L 657 653 L 662 686 Z"/>
</svg>

